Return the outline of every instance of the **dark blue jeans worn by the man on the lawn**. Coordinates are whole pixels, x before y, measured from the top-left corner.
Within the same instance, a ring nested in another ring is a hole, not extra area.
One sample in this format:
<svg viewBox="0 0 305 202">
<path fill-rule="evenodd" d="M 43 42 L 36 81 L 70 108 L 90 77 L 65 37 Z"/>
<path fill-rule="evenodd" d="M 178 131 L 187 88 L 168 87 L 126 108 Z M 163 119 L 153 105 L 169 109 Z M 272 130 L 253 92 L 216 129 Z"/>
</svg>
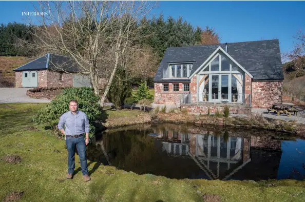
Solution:
<svg viewBox="0 0 305 202">
<path fill-rule="evenodd" d="M 78 138 L 66 137 L 66 145 L 68 149 L 68 173 L 73 174 L 74 172 L 74 168 L 75 168 L 74 155 L 75 155 L 75 146 L 76 146 L 81 160 L 82 173 L 83 175 L 88 175 L 86 144 L 84 137 L 83 136 Z"/>
</svg>

